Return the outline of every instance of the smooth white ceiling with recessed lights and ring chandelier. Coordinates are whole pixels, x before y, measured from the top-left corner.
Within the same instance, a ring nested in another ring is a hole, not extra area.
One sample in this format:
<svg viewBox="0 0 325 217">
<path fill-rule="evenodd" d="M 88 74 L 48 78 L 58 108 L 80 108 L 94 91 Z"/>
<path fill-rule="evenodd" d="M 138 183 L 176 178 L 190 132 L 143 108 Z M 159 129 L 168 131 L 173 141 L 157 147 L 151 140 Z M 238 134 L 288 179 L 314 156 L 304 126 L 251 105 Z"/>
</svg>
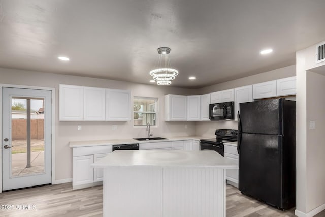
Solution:
<svg viewBox="0 0 325 217">
<path fill-rule="evenodd" d="M 0 1 L 0 67 L 148 84 L 156 49 L 168 46 L 172 86 L 199 88 L 295 64 L 297 50 L 325 40 L 324 9 L 324 0 Z"/>
</svg>

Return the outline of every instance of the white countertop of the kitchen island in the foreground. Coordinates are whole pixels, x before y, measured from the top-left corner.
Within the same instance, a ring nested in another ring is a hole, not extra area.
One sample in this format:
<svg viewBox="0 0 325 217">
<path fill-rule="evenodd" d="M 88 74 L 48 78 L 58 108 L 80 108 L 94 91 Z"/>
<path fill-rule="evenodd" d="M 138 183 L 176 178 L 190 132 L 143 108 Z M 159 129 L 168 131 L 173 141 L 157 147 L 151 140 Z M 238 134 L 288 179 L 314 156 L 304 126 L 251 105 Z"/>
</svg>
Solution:
<svg viewBox="0 0 325 217">
<path fill-rule="evenodd" d="M 215 151 L 116 150 L 92 164 L 109 166 L 172 166 L 238 169 L 236 161 Z"/>
</svg>

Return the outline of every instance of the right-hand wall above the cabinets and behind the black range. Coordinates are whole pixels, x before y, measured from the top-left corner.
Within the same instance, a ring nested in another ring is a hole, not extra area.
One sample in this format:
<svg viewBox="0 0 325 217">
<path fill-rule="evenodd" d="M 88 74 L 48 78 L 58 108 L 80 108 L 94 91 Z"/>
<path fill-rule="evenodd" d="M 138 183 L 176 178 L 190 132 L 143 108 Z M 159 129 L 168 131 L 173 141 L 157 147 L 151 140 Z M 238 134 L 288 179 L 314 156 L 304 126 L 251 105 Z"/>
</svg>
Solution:
<svg viewBox="0 0 325 217">
<path fill-rule="evenodd" d="M 248 76 L 208 87 L 204 87 L 198 90 L 199 94 L 207 94 L 209 92 L 215 92 L 225 89 L 231 89 L 235 87 L 241 87 L 265 81 L 271 81 L 286 77 L 296 76 L 296 65 L 283 67 L 280 69 L 272 70 L 269 72 L 263 72 L 257 75 Z M 221 128 L 238 129 L 237 121 L 234 120 L 218 120 L 218 121 L 198 121 L 195 125 L 195 132 L 197 136 L 203 136 L 205 138 L 213 138 L 214 131 Z"/>
</svg>

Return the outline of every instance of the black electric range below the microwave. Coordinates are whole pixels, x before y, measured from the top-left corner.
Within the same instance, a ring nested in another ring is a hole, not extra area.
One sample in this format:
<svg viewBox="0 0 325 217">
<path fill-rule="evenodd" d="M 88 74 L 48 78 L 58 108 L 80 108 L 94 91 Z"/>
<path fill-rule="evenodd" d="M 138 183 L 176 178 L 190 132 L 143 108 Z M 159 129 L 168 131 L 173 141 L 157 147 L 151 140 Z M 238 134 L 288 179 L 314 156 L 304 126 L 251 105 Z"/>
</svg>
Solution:
<svg viewBox="0 0 325 217">
<path fill-rule="evenodd" d="M 237 141 L 238 131 L 233 129 L 217 129 L 215 130 L 216 138 L 201 139 L 201 150 L 214 150 L 223 156 L 223 143 Z"/>
</svg>

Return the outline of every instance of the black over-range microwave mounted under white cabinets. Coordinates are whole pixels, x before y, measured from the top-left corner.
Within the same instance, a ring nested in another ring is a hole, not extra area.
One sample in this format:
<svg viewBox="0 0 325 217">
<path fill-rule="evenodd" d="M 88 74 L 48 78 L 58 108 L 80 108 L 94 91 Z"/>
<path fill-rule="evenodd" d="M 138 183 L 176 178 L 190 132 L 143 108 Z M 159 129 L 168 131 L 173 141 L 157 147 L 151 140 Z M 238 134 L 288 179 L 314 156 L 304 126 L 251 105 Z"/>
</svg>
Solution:
<svg viewBox="0 0 325 217">
<path fill-rule="evenodd" d="M 210 120 L 234 119 L 234 102 L 213 103 L 209 109 Z"/>
</svg>

